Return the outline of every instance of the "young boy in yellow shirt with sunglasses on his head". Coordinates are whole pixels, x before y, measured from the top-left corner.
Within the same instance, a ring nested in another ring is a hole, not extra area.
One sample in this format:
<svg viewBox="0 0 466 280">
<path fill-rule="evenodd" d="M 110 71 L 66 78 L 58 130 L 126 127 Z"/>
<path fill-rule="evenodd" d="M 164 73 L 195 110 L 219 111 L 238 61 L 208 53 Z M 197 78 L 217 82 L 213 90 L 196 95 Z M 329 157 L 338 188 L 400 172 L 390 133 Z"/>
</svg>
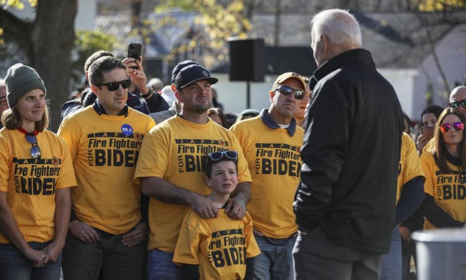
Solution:
<svg viewBox="0 0 466 280">
<path fill-rule="evenodd" d="M 182 264 L 183 279 L 252 279 L 254 257 L 260 254 L 248 212 L 242 220 L 225 214 L 238 183 L 235 151 L 214 152 L 206 160 L 207 196 L 218 216 L 201 219 L 192 209 L 184 215 L 173 262 Z"/>
</svg>

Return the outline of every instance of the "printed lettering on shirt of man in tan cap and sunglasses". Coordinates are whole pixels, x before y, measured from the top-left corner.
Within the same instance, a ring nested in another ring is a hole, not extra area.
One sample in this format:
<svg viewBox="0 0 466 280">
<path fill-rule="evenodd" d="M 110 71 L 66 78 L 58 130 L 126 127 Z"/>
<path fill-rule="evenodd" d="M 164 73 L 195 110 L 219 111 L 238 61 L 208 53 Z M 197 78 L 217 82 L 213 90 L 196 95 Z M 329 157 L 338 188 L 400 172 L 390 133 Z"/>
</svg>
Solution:
<svg viewBox="0 0 466 280">
<path fill-rule="evenodd" d="M 300 177 L 300 147 L 283 143 L 256 143 L 255 174 Z"/>
</svg>

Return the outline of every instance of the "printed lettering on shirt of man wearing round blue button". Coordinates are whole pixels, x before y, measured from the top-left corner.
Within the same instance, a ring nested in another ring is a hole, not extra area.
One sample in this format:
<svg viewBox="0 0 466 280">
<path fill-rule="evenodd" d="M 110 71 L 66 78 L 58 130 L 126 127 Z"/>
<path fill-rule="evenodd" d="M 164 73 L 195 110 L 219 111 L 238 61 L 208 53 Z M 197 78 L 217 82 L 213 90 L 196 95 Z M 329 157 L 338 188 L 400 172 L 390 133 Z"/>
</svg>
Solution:
<svg viewBox="0 0 466 280">
<path fill-rule="evenodd" d="M 89 166 L 136 166 L 144 136 L 139 132 L 99 132 L 87 135 Z"/>
</svg>

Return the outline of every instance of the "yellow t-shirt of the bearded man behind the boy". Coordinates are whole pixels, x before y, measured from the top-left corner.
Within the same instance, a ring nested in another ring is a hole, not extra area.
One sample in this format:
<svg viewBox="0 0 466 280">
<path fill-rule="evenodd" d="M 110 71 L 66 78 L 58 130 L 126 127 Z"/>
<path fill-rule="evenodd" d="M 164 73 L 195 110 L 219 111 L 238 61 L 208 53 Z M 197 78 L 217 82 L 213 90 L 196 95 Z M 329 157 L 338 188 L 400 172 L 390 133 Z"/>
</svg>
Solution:
<svg viewBox="0 0 466 280">
<path fill-rule="evenodd" d="M 231 131 L 211 120 L 197 124 L 175 115 L 152 128 L 144 138 L 134 180 L 159 177 L 205 196 L 210 193 L 204 181 L 206 155 L 224 150 L 238 151 L 238 182 L 250 182 L 248 163 Z M 149 250 L 175 250 L 187 207 L 150 198 Z"/>
</svg>

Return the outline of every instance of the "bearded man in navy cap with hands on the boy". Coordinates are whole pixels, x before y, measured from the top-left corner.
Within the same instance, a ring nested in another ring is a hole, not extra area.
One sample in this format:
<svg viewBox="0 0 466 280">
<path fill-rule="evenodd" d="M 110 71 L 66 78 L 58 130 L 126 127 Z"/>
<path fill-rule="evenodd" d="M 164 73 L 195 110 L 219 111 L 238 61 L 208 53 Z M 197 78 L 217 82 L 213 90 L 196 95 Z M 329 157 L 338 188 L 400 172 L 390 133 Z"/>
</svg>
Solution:
<svg viewBox="0 0 466 280">
<path fill-rule="evenodd" d="M 183 221 L 191 207 L 200 218 L 216 217 L 218 209 L 205 196 L 207 155 L 212 152 L 238 152 L 238 185 L 225 212 L 242 219 L 250 198 L 250 172 L 241 146 L 233 133 L 207 116 L 212 106 L 212 85 L 218 80 L 200 65 L 184 67 L 175 78 L 175 96 L 183 104 L 181 113 L 153 127 L 144 138 L 134 179 L 149 205 L 149 279 L 182 279 L 182 269 L 173 252 Z"/>
</svg>

